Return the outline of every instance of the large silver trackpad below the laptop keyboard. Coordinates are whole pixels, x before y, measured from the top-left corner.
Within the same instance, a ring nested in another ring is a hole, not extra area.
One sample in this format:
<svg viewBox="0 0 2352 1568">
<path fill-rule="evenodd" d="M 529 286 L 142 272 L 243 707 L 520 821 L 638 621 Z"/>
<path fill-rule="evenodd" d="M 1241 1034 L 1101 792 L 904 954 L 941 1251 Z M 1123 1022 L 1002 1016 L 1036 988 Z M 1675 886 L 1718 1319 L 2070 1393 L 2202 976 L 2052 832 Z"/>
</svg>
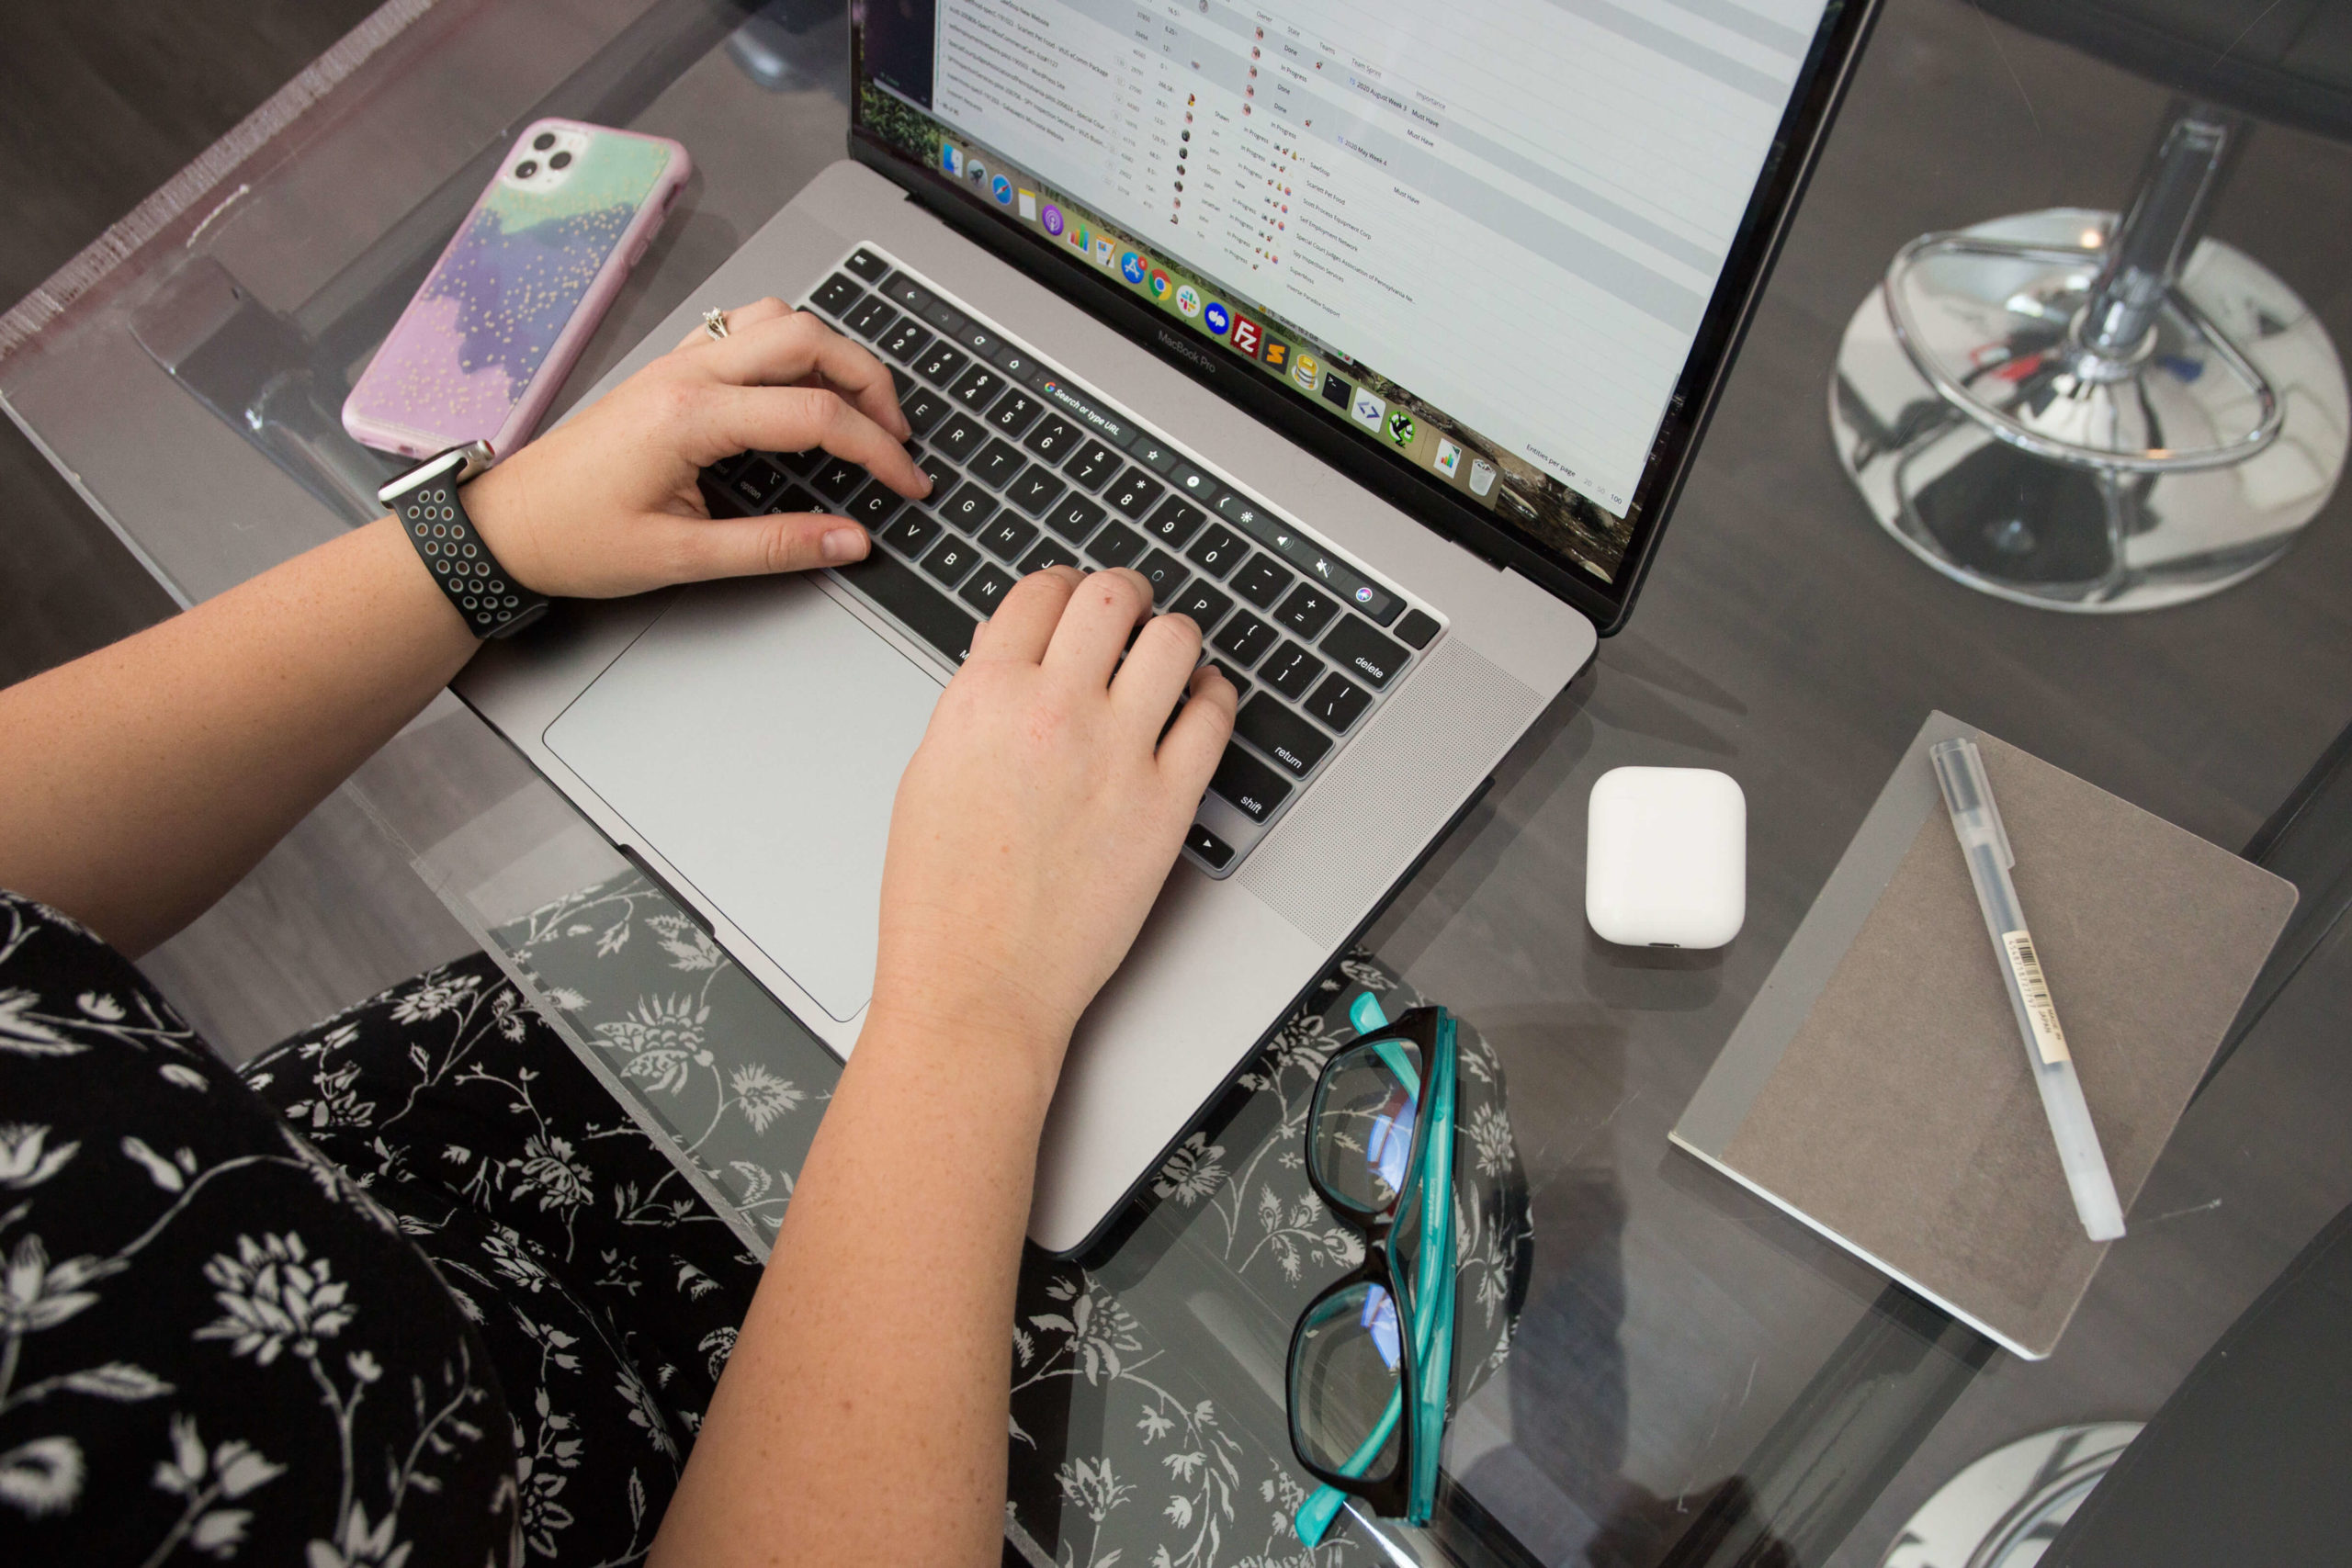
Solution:
<svg viewBox="0 0 2352 1568">
<path fill-rule="evenodd" d="M 875 987 L 882 851 L 938 677 L 809 583 L 680 595 L 548 750 L 847 1023 Z"/>
</svg>

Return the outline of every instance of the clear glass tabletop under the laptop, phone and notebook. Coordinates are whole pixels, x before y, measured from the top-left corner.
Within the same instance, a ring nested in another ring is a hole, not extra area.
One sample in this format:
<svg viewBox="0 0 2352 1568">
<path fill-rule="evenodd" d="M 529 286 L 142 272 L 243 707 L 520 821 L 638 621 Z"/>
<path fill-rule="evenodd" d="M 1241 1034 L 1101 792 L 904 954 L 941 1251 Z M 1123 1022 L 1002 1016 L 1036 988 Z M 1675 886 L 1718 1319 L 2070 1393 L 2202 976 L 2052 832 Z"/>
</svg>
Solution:
<svg viewBox="0 0 2352 1568">
<path fill-rule="evenodd" d="M 198 602 L 374 515 L 367 491 L 393 463 L 353 447 L 336 409 L 515 127 L 548 113 L 623 125 L 684 141 L 696 162 L 562 411 L 842 155 L 844 38 L 826 0 L 393 0 L 0 322 L 0 400 Z M 2082 1352 L 2032 1366 L 1665 1138 L 1929 710 L 2230 849 L 2347 717 L 2345 498 L 2225 595 L 2082 618 L 1924 569 L 1877 529 L 1828 442 L 1839 331 L 1903 242 L 2119 200 L 2161 113 L 2161 89 L 1994 38 L 1959 0 L 1886 7 L 1632 628 L 1178 1152 L 1124 1241 L 1087 1267 L 1030 1260 L 1014 1345 L 1021 1554 L 1105 1568 L 1877 1561 L 1903 1519 L 1889 1509 L 1976 1458 L 1952 1448 L 1973 1439 L 1943 1434 L 1999 1432 L 1997 1415 L 1947 1420 L 1971 1389 L 2145 1415 L 2267 1284 L 2284 1255 L 2249 1237 L 2296 1234 L 2279 1182 L 2265 1185 L 2265 1161 L 2291 1154 L 2225 1168 L 2216 1150 L 2253 1117 L 2227 1093 L 2192 1107 L 2150 1187 L 2169 1201 L 2183 1187 L 2166 1173 L 2194 1171 L 2206 1185 L 2185 1192 L 2227 1199 L 2161 1241 L 2209 1265 L 2204 1314 L 2171 1338 L 2119 1326 L 2150 1291 L 2126 1262 L 2133 1239 L 2072 1331 Z M 2232 179 L 2216 233 L 2328 301 L 2343 336 L 2336 237 L 2291 237 L 2281 212 L 2343 212 L 2352 158 L 2265 132 Z M 1585 929 L 1585 795 L 1621 764 L 1740 780 L 1748 922 L 1729 947 L 1637 952 Z M 454 698 L 346 790 L 764 1246 L 837 1072 L 823 1048 Z M 1432 1530 L 1350 1519 L 1305 1552 L 1287 1526 L 1303 1472 L 1282 1354 L 1350 1244 L 1296 1173 L 1298 1107 L 1364 990 L 1444 1001 L 1491 1067 L 1494 1204 L 1470 1227 L 1465 1291 L 1494 1316 Z M 2241 1215 L 2239 1190 L 2260 1218 Z"/>
</svg>

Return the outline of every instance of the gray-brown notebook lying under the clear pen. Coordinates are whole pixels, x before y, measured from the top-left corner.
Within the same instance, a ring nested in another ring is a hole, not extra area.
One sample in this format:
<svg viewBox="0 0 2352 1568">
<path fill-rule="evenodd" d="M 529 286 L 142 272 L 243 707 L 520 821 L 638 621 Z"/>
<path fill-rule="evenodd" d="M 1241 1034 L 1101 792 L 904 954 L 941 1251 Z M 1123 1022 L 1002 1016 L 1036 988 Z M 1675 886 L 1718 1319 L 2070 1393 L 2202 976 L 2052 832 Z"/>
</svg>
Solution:
<svg viewBox="0 0 2352 1568">
<path fill-rule="evenodd" d="M 2296 907 L 2192 832 L 1936 712 L 1672 1140 L 2020 1356 L 2084 1237 L 1926 750 L 1985 755 L 2091 1121 L 2131 1204 Z"/>
</svg>

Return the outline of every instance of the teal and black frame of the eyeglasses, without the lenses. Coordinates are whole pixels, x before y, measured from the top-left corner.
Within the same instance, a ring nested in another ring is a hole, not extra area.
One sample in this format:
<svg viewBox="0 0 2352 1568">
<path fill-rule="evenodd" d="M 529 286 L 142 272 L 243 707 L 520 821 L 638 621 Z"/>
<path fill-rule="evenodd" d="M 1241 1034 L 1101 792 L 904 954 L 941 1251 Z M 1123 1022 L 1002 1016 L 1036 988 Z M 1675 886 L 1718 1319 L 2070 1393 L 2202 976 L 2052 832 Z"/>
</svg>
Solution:
<svg viewBox="0 0 2352 1568">
<path fill-rule="evenodd" d="M 1397 1392 L 1374 1425 L 1371 1436 L 1348 1458 L 1341 1469 L 1324 1469 L 1308 1458 L 1308 1443 L 1298 1434 L 1298 1408 L 1289 1403 L 1291 1450 L 1298 1462 L 1322 1481 L 1291 1516 L 1298 1540 L 1308 1547 L 1322 1542 L 1324 1530 L 1345 1507 L 1348 1497 L 1362 1497 L 1385 1519 L 1404 1519 L 1425 1526 L 1437 1507 L 1437 1455 L 1446 1434 L 1446 1406 L 1454 1382 L 1454 1095 L 1456 1095 L 1456 1046 L 1454 1016 L 1439 1006 L 1414 1009 L 1388 1023 L 1381 1001 L 1369 992 L 1348 1009 L 1348 1020 L 1357 1027 L 1357 1039 L 1343 1053 L 1371 1046 L 1381 1060 L 1421 1098 L 1421 1074 L 1399 1044 L 1421 1048 L 1421 1060 L 1430 1067 L 1425 1114 L 1414 1126 L 1414 1147 L 1406 1154 L 1404 1185 L 1397 1206 L 1385 1220 L 1367 1218 L 1362 1211 L 1338 1201 L 1324 1185 L 1312 1157 L 1312 1126 L 1308 1131 L 1308 1182 L 1324 1206 L 1348 1227 L 1364 1234 L 1364 1262 L 1352 1274 L 1319 1293 L 1291 1328 L 1289 1366 L 1284 1389 L 1294 1385 L 1301 1338 L 1317 1309 L 1362 1284 L 1376 1284 L 1397 1302 Z M 1338 1060 L 1334 1056 L 1331 1060 Z M 1329 1074 L 1331 1067 L 1324 1065 Z M 1317 1100 L 1322 1084 L 1317 1081 Z M 1409 1204 L 1421 1206 L 1421 1241 L 1414 1260 L 1402 1260 L 1390 1248 L 1397 1213 Z M 1406 1415 L 1409 1413 L 1409 1415 Z M 1397 1469 L 1381 1481 L 1364 1481 L 1362 1472 L 1388 1446 L 1402 1422 Z"/>
</svg>

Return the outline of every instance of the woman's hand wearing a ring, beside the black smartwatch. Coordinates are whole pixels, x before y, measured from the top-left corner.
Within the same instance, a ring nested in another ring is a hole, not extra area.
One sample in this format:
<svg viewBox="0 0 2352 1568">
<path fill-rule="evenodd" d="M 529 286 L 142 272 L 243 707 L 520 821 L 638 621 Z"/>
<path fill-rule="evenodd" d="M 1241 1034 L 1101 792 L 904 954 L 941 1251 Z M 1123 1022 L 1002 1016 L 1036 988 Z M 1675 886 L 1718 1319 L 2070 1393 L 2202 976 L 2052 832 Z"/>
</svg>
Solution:
<svg viewBox="0 0 2352 1568">
<path fill-rule="evenodd" d="M 515 578 L 607 599 L 866 557 L 866 529 L 844 517 L 713 520 L 694 475 L 736 451 L 823 447 L 901 496 L 931 494 L 880 360 L 776 299 L 729 310 L 727 327 L 717 341 L 696 327 L 466 487 L 466 512 Z"/>
</svg>

